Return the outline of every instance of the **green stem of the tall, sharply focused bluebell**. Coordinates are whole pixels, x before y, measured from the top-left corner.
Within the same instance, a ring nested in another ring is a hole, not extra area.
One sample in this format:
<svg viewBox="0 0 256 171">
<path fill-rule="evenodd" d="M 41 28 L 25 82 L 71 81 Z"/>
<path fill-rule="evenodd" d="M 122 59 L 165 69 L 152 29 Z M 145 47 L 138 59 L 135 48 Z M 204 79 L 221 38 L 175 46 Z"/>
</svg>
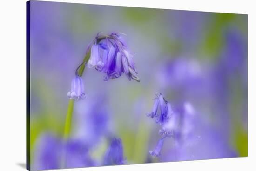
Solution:
<svg viewBox="0 0 256 171">
<path fill-rule="evenodd" d="M 84 64 L 86 64 L 88 62 L 90 55 L 91 55 L 91 51 L 89 49 L 83 59 Z M 78 74 L 80 76 L 82 76 L 84 69 L 85 69 L 85 65 L 81 65 L 78 70 Z M 68 102 L 67 116 L 66 116 L 65 127 L 64 127 L 64 139 L 65 140 L 67 140 L 67 138 L 69 138 L 69 135 L 70 135 L 73 109 L 74 109 L 74 99 L 70 99 Z"/>
</svg>

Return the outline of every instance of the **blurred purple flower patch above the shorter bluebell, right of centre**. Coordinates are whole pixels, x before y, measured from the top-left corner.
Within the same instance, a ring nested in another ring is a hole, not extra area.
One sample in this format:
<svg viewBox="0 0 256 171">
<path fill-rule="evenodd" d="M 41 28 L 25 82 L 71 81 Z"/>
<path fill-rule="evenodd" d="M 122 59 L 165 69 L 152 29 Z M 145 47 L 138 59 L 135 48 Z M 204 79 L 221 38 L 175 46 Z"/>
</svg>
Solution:
<svg viewBox="0 0 256 171">
<path fill-rule="evenodd" d="M 183 94 L 188 92 L 202 93 L 202 88 L 200 86 L 199 89 L 198 85 L 203 84 L 206 71 L 207 69 L 202 68 L 202 65 L 195 59 L 176 57 L 161 63 L 155 79 L 159 81 L 162 88 L 167 90 L 170 88 L 176 91 L 182 90 Z M 197 89 L 200 91 L 196 91 Z"/>
</svg>

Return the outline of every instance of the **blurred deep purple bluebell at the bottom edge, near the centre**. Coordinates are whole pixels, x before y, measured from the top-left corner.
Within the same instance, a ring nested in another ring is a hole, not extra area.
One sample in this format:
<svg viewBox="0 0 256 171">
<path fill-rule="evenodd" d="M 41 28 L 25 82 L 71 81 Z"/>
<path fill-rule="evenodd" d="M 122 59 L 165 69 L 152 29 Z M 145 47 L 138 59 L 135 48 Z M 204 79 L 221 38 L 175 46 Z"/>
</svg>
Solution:
<svg viewBox="0 0 256 171">
<path fill-rule="evenodd" d="M 113 138 L 104 156 L 104 165 L 124 164 L 123 146 L 120 138 Z"/>
</svg>

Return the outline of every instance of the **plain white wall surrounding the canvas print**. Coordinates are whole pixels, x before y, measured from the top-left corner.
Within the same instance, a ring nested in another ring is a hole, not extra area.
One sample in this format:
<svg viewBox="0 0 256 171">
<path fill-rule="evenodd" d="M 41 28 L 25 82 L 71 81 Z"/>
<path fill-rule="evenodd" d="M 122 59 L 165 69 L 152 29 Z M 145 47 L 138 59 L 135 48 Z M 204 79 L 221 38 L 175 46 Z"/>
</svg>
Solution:
<svg viewBox="0 0 256 171">
<path fill-rule="evenodd" d="M 254 132 L 256 130 L 256 5 L 253 0 L 54 1 L 249 14 L 248 158 L 108 166 L 67 171 L 251 171 L 256 169 Z M 0 1 L 0 90 L 0 171 L 24 171 L 26 164 L 26 0 Z"/>
</svg>

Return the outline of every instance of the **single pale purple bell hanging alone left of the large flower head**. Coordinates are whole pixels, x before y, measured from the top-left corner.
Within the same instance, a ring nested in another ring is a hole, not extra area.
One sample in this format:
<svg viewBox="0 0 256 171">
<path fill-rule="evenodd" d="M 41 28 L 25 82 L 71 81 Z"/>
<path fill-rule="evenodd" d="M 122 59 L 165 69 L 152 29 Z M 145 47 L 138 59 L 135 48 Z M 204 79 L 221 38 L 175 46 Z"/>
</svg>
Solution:
<svg viewBox="0 0 256 171">
<path fill-rule="evenodd" d="M 76 75 L 71 83 L 71 91 L 67 93 L 69 99 L 81 100 L 86 98 L 84 93 L 84 84 L 83 80 L 79 75 Z"/>
</svg>

